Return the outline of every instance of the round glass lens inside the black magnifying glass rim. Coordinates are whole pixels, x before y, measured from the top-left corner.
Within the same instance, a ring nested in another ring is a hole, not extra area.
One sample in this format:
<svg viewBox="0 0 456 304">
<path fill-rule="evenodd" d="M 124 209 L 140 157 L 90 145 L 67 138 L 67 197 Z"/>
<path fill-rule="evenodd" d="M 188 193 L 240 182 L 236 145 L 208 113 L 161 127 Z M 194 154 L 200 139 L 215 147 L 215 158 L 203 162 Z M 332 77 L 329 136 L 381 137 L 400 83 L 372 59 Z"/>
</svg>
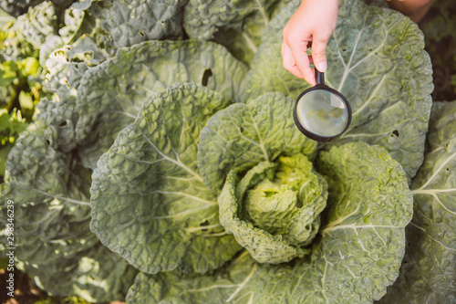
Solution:
<svg viewBox="0 0 456 304">
<path fill-rule="evenodd" d="M 295 110 L 301 125 L 318 136 L 337 136 L 349 123 L 346 102 L 326 89 L 303 94 Z"/>
</svg>

